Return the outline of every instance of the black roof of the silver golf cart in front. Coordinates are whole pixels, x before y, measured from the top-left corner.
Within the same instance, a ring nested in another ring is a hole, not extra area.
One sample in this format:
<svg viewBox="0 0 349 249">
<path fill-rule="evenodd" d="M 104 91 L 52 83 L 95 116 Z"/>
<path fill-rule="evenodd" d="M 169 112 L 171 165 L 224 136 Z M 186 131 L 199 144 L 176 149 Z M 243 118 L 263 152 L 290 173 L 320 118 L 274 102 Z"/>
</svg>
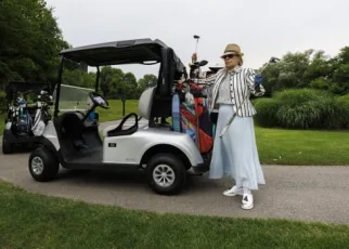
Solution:
<svg viewBox="0 0 349 249">
<path fill-rule="evenodd" d="M 106 66 L 119 64 L 152 64 L 161 61 L 161 49 L 170 49 L 163 41 L 150 38 L 112 41 L 106 43 L 91 44 L 66 49 L 61 55 L 78 63 L 89 66 Z M 173 52 L 177 68 L 182 70 L 184 65 Z"/>
</svg>

